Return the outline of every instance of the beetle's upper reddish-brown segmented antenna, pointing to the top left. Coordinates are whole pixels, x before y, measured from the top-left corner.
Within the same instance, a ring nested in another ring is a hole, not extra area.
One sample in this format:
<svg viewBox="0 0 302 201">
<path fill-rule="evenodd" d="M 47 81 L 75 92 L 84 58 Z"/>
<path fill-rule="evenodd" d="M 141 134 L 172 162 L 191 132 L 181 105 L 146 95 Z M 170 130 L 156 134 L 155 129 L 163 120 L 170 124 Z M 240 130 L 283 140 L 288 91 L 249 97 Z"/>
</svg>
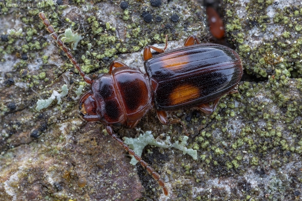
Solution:
<svg viewBox="0 0 302 201">
<path fill-rule="evenodd" d="M 76 62 L 75 57 L 71 54 L 71 52 L 64 45 L 63 41 L 58 37 L 57 33 L 54 30 L 54 27 L 49 23 L 48 19 L 46 19 L 44 13 L 39 13 L 39 17 L 42 19 L 43 24 L 46 26 L 46 30 L 51 33 L 51 36 L 56 40 L 58 46 L 66 53 L 69 60 L 74 64 L 80 75 L 84 78 L 85 82 L 88 84 L 92 84 L 93 80 L 86 76 L 82 71 L 80 65 Z"/>
</svg>

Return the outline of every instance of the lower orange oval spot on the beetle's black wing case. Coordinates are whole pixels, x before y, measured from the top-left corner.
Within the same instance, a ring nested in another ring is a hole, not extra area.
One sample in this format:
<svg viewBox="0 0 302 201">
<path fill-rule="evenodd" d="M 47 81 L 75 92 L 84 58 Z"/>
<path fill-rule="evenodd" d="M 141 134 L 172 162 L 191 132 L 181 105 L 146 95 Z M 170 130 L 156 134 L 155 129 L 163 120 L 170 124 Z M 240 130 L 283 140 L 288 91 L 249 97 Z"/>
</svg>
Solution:
<svg viewBox="0 0 302 201">
<path fill-rule="evenodd" d="M 172 105 L 178 105 L 196 99 L 199 96 L 200 91 L 198 87 L 192 86 L 190 84 L 184 84 L 176 87 L 170 93 L 170 102 Z"/>
</svg>

